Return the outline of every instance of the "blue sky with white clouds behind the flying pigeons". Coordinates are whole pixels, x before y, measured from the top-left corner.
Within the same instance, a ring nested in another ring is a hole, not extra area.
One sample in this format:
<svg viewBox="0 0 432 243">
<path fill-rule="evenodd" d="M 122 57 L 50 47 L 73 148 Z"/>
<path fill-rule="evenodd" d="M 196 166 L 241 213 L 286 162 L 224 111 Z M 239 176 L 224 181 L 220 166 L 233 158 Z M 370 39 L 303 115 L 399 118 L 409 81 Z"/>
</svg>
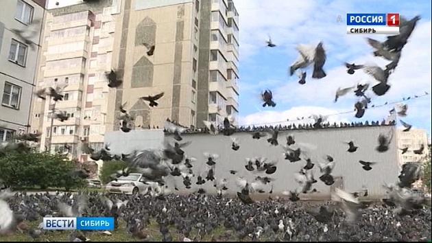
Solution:
<svg viewBox="0 0 432 243">
<path fill-rule="evenodd" d="M 383 97 L 374 97 L 372 103 L 396 102 L 403 97 L 431 92 L 431 1 L 261 1 L 235 0 L 240 14 L 240 124 L 277 124 L 286 119 L 311 114 L 329 115 L 352 111 L 357 101 L 354 95 L 346 95 L 334 103 L 338 87 L 357 82 L 372 82 L 363 71 L 350 76 L 343 62 L 374 63 L 381 67 L 387 61 L 372 56 L 372 48 L 365 42 L 365 35 L 346 34 L 347 13 L 397 12 L 411 19 L 420 15 L 416 30 L 405 46 L 399 66 L 390 76 L 390 91 Z M 337 23 L 337 16 L 344 23 Z M 278 47 L 265 47 L 267 34 Z M 371 38 L 385 40 L 383 35 Z M 307 84 L 297 83 L 298 77 L 289 77 L 287 69 L 296 60 L 296 45 L 324 43 L 327 61 L 324 69 L 327 77 L 322 80 L 309 78 Z M 274 91 L 275 108 L 263 108 L 259 93 L 263 89 Z M 251 100 L 253 102 L 251 102 Z M 408 115 L 403 120 L 418 128 L 425 128 L 431 135 L 431 96 L 407 103 Z M 332 115 L 333 121 L 382 120 L 393 106 L 374 108 L 363 119 L 352 114 Z"/>
</svg>

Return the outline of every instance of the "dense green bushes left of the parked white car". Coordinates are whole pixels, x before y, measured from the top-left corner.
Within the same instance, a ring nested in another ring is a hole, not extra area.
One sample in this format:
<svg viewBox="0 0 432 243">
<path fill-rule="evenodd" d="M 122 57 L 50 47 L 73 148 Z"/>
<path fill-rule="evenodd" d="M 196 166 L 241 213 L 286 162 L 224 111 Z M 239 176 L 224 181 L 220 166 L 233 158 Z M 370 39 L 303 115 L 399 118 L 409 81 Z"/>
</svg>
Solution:
<svg viewBox="0 0 432 243">
<path fill-rule="evenodd" d="M 14 188 L 81 187 L 84 181 L 69 173 L 74 168 L 75 163 L 63 154 L 11 151 L 0 157 L 0 178 Z"/>
</svg>

